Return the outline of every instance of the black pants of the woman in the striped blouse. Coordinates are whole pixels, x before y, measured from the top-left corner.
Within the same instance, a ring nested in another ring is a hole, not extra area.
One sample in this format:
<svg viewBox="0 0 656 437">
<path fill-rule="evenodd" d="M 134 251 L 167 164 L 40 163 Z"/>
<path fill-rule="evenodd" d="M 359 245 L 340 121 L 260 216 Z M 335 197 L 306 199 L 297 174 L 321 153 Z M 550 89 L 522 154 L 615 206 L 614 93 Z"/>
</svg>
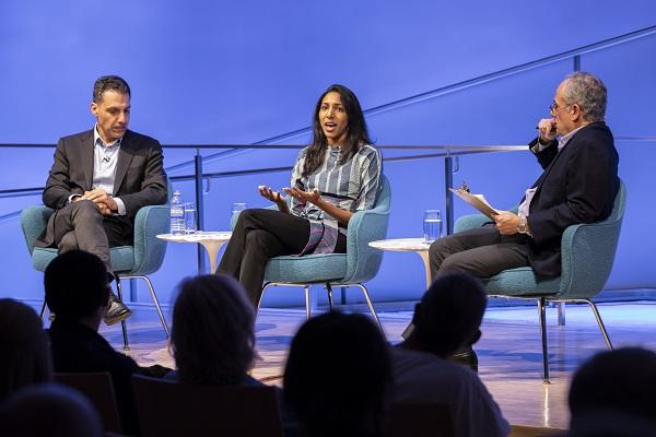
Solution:
<svg viewBox="0 0 656 437">
<path fill-rule="evenodd" d="M 269 259 L 301 253 L 308 238 L 309 222 L 305 218 L 278 210 L 245 210 L 239 214 L 216 273 L 237 279 L 257 307 Z M 345 252 L 345 240 L 340 234 L 336 252 Z"/>
</svg>

